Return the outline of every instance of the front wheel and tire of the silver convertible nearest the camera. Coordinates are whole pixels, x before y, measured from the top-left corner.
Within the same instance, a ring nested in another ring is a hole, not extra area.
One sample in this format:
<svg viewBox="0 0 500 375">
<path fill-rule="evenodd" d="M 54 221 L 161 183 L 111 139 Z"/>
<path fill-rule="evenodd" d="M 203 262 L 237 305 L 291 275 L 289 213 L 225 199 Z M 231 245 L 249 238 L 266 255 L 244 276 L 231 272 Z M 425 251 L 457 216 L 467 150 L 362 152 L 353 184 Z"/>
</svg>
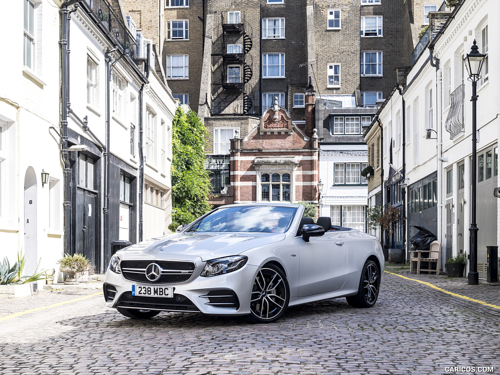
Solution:
<svg viewBox="0 0 500 375">
<path fill-rule="evenodd" d="M 252 323 L 271 323 L 279 319 L 290 300 L 290 289 L 283 271 L 275 265 L 259 269 L 250 296 L 250 314 L 245 319 Z"/>
</svg>

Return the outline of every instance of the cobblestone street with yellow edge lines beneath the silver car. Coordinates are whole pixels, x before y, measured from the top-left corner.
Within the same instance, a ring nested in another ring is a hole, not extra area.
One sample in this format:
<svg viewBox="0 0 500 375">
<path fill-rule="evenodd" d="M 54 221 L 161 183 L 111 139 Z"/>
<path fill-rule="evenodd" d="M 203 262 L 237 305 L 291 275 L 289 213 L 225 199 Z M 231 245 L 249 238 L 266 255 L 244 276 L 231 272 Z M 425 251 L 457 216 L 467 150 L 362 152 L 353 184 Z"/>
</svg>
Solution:
<svg viewBox="0 0 500 375">
<path fill-rule="evenodd" d="M 95 289 L 2 299 L 0 374 L 500 373 L 500 286 L 389 272 L 373 308 L 340 298 L 267 325 L 192 313 L 132 320 Z"/>
</svg>

